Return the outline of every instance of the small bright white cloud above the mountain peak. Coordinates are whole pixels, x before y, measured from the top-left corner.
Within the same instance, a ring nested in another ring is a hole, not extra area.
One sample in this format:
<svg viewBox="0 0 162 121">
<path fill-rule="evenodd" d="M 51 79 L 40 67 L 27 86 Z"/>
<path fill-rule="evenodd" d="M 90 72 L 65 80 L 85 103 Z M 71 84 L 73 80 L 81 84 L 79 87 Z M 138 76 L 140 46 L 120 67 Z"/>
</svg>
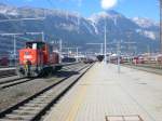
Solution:
<svg viewBox="0 0 162 121">
<path fill-rule="evenodd" d="M 102 0 L 100 4 L 104 10 L 113 8 L 118 3 L 118 0 Z"/>
</svg>

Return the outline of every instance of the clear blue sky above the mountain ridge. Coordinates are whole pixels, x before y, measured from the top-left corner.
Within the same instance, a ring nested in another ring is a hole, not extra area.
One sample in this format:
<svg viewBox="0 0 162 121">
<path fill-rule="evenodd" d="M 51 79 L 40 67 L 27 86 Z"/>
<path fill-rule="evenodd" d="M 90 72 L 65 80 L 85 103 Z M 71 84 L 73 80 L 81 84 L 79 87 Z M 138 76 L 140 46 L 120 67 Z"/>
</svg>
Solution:
<svg viewBox="0 0 162 121">
<path fill-rule="evenodd" d="M 63 9 L 79 12 L 89 17 L 94 13 L 104 11 L 100 0 L 0 0 L 3 3 L 14 5 L 31 5 L 37 8 Z M 51 2 L 50 2 L 51 1 Z M 159 21 L 158 0 L 118 0 L 113 10 L 127 17 L 148 17 Z"/>
</svg>

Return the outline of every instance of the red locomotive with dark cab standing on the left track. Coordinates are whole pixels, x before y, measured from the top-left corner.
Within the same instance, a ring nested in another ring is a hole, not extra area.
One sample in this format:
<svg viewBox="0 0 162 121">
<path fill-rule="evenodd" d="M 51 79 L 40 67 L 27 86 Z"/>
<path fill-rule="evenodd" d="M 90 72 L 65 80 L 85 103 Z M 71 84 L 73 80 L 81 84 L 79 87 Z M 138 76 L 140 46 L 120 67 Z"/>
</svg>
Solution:
<svg viewBox="0 0 162 121">
<path fill-rule="evenodd" d="M 60 68 L 59 54 L 53 52 L 53 46 L 45 42 L 26 42 L 26 48 L 19 50 L 19 77 L 45 76 Z"/>
</svg>

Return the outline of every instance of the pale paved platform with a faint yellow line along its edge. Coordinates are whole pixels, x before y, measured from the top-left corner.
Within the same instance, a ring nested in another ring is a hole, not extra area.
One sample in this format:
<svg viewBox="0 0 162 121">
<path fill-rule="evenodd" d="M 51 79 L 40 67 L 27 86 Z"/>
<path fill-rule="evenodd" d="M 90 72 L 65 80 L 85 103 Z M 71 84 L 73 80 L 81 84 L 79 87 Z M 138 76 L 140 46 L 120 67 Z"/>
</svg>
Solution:
<svg viewBox="0 0 162 121">
<path fill-rule="evenodd" d="M 95 64 L 44 121 L 162 121 L 162 76 Z"/>
</svg>

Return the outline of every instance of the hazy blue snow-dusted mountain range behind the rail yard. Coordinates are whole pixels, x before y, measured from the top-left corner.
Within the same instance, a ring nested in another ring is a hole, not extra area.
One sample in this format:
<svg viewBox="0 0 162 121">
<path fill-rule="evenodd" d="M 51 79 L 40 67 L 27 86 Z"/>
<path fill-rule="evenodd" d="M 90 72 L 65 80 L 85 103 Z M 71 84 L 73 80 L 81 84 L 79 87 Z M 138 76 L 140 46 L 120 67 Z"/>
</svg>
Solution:
<svg viewBox="0 0 162 121">
<path fill-rule="evenodd" d="M 146 18 L 127 18 L 116 11 L 100 12 L 89 18 L 78 13 L 60 10 L 11 6 L 0 4 L 0 19 L 24 17 L 45 17 L 43 21 L 24 21 L 0 24 L 0 31 L 44 31 L 46 40 L 62 38 L 71 44 L 85 46 L 87 42 L 103 42 L 106 25 L 108 41 L 123 40 L 136 42 L 139 50 L 146 43 L 154 46 L 159 39 L 159 26 Z M 153 40 L 153 41 L 152 41 Z"/>
</svg>

